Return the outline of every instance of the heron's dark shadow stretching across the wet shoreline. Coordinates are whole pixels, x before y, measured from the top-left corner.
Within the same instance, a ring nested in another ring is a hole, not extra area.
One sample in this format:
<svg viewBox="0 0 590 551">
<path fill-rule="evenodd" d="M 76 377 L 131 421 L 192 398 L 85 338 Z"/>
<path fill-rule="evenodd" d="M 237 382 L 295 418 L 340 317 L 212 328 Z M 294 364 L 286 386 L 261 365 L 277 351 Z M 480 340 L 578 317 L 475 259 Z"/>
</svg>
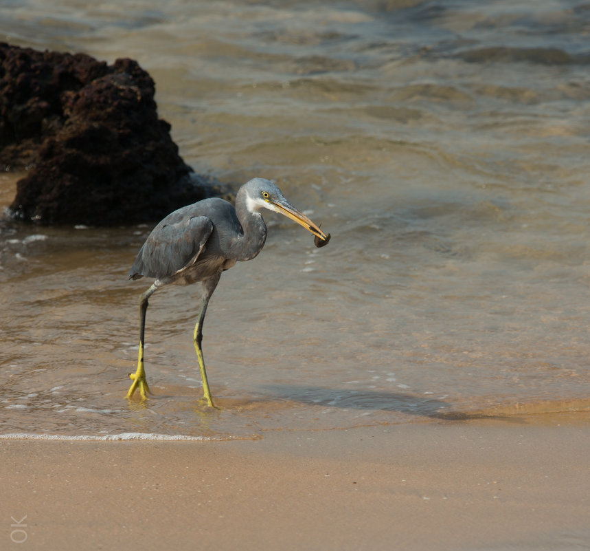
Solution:
<svg viewBox="0 0 590 551">
<path fill-rule="evenodd" d="M 485 411 L 460 411 L 453 403 L 440 398 L 424 398 L 414 394 L 375 391 L 372 389 L 343 390 L 299 385 L 264 385 L 273 398 L 292 400 L 310 406 L 360 409 L 367 411 L 397 411 L 406 415 L 448 421 L 471 419 L 508 420 L 506 415 Z"/>
</svg>

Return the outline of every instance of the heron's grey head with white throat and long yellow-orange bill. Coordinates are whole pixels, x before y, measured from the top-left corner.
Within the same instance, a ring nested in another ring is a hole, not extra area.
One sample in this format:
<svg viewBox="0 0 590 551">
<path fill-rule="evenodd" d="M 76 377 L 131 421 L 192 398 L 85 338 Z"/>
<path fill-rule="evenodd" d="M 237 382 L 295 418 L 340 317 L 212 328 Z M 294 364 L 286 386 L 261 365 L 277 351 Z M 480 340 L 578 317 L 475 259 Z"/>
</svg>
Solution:
<svg viewBox="0 0 590 551">
<path fill-rule="evenodd" d="M 275 213 L 291 218 L 297 224 L 301 224 L 319 239 L 323 241 L 328 239 L 328 236 L 319 229 L 319 226 L 285 199 L 282 191 L 271 180 L 253 178 L 253 180 L 242 186 L 242 189 L 246 194 L 246 208 L 251 213 L 256 213 L 261 208 L 268 208 Z"/>
</svg>

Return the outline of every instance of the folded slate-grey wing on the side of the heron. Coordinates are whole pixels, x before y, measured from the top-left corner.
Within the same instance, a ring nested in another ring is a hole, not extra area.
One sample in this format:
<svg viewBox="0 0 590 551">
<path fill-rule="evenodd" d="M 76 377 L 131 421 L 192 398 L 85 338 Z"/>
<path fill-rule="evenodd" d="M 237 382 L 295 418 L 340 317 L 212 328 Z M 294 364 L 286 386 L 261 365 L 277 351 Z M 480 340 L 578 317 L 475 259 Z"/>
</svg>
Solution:
<svg viewBox="0 0 590 551">
<path fill-rule="evenodd" d="M 150 233 L 129 271 L 129 279 L 170 277 L 194 263 L 213 231 L 206 216 L 163 219 Z"/>
</svg>

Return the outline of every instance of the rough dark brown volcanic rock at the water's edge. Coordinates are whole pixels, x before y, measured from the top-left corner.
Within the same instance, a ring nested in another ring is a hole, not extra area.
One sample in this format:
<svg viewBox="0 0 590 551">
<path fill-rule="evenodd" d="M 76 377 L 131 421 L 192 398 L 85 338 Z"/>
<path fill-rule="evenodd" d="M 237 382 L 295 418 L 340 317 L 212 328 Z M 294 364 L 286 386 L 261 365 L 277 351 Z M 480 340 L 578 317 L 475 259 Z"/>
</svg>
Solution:
<svg viewBox="0 0 590 551">
<path fill-rule="evenodd" d="M 150 222 L 208 195 L 130 59 L 0 43 L 0 167 L 30 170 L 10 206 L 41 224 Z"/>
</svg>

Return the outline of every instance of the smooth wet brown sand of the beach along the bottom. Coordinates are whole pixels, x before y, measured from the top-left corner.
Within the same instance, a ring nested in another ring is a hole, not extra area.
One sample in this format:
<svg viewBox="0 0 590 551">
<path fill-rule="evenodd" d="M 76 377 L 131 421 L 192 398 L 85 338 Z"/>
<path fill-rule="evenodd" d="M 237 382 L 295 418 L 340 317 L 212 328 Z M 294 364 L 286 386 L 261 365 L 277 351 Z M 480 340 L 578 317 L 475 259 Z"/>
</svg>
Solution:
<svg viewBox="0 0 590 551">
<path fill-rule="evenodd" d="M 588 413 L 0 451 L 1 550 L 590 548 Z"/>
</svg>

